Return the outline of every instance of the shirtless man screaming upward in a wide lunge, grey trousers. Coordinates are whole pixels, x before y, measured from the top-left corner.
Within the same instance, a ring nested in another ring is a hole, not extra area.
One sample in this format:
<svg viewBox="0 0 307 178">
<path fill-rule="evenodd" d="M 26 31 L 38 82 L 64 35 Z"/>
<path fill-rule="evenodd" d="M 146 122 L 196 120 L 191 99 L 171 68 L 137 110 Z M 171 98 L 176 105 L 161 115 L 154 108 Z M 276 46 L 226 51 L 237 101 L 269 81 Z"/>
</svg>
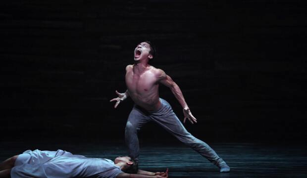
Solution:
<svg viewBox="0 0 307 178">
<path fill-rule="evenodd" d="M 149 64 L 154 56 L 155 49 L 151 42 L 138 44 L 134 50 L 134 64 L 126 67 L 127 90 L 124 93 L 116 90 L 118 97 L 110 100 L 116 101 L 114 108 L 128 96 L 135 103 L 125 128 L 129 156 L 138 160 L 140 147 L 137 131 L 144 124 L 153 121 L 216 165 L 221 173 L 229 172 L 230 168 L 224 160 L 208 144 L 190 134 L 179 121 L 169 103 L 159 97 L 158 88 L 161 83 L 171 89 L 181 104 L 184 114 L 183 122 L 185 123 L 188 119 L 192 124 L 197 123 L 178 85 L 163 70 Z"/>
</svg>

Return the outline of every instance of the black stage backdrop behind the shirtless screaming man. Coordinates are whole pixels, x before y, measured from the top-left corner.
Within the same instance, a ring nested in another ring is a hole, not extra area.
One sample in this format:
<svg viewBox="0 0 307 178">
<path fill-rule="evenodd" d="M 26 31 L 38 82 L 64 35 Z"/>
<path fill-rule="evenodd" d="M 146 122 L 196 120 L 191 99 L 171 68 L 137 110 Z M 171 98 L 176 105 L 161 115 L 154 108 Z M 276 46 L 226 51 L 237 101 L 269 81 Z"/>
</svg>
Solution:
<svg viewBox="0 0 307 178">
<path fill-rule="evenodd" d="M 134 47 L 180 86 L 211 142 L 306 143 L 303 0 L 12 0 L 0 6 L 0 141 L 123 142 Z M 183 119 L 171 91 L 160 96 Z M 151 123 L 142 144 L 176 143 Z M 179 143 L 179 142 L 178 142 Z"/>
</svg>

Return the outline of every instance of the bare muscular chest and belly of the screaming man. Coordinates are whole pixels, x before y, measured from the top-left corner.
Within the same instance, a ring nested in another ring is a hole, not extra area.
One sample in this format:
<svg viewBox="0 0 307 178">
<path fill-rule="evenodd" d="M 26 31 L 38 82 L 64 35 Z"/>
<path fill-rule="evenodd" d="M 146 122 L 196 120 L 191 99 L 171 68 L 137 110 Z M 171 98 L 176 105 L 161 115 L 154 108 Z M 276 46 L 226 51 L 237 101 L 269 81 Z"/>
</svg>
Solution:
<svg viewBox="0 0 307 178">
<path fill-rule="evenodd" d="M 156 69 L 150 66 L 143 73 L 138 73 L 133 65 L 129 65 L 126 70 L 126 86 L 131 99 L 146 110 L 157 110 L 161 103 Z"/>
</svg>

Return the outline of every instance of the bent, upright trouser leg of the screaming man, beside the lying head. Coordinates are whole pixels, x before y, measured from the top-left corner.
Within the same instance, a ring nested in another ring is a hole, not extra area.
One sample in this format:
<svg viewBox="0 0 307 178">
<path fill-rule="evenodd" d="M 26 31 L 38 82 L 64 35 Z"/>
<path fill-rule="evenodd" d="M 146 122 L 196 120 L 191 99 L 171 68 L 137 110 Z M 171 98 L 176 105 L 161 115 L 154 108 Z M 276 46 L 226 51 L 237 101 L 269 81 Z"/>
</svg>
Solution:
<svg viewBox="0 0 307 178">
<path fill-rule="evenodd" d="M 149 121 L 150 118 L 148 117 L 148 114 L 144 113 L 136 106 L 133 107 L 125 128 L 125 141 L 128 147 L 129 156 L 136 161 L 138 161 L 140 155 L 138 131 Z"/>
</svg>

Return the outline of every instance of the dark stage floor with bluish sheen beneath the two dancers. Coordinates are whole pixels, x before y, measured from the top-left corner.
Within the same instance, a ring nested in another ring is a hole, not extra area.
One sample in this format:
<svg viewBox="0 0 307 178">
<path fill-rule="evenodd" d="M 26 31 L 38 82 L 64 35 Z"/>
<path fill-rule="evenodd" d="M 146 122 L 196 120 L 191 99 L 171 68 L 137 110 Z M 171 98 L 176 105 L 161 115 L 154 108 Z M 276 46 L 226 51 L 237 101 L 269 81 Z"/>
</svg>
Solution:
<svg viewBox="0 0 307 178">
<path fill-rule="evenodd" d="M 218 168 L 184 145 L 152 144 L 141 146 L 140 169 L 165 171 L 169 178 L 307 178 L 307 146 L 253 143 L 212 143 L 210 146 L 231 167 L 230 173 Z M 27 149 L 63 149 L 73 154 L 107 158 L 126 155 L 122 143 L 29 143 L 1 142 L 0 161 Z"/>
</svg>

